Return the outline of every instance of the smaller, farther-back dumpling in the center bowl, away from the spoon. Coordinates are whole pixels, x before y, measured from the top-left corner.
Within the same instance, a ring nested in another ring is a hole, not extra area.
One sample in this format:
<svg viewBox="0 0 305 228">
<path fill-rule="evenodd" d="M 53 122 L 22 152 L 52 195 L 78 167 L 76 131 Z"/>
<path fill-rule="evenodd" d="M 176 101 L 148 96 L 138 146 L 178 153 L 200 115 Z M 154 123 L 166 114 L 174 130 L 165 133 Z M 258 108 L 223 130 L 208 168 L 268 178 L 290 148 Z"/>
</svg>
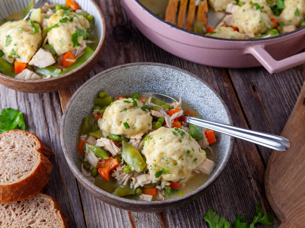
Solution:
<svg viewBox="0 0 305 228">
<path fill-rule="evenodd" d="M 138 99 L 124 98 L 109 105 L 98 121 L 104 133 L 124 135 L 130 139 L 141 139 L 152 129 L 152 116 L 148 109 L 141 109 L 143 103 Z"/>
</svg>

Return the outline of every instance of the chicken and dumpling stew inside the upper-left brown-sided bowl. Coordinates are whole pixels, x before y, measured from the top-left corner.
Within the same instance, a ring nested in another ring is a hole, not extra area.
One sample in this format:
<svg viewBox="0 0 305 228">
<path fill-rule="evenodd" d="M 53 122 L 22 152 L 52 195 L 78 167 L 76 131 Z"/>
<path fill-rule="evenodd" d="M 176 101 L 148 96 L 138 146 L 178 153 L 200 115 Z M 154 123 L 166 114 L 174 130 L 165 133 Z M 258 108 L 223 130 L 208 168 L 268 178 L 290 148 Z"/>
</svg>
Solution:
<svg viewBox="0 0 305 228">
<path fill-rule="evenodd" d="M 19 79 L 52 78 L 76 69 L 97 47 L 94 17 L 76 2 L 34 2 L 0 21 L 0 73 Z"/>
</svg>

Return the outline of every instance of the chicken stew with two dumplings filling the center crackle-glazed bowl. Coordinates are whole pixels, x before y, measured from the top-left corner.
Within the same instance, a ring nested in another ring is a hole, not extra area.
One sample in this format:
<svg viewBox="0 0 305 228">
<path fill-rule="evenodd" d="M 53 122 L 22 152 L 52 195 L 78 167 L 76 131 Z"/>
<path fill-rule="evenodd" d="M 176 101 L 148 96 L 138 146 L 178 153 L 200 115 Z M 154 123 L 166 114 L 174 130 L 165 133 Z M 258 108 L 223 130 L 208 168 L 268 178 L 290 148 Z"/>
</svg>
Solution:
<svg viewBox="0 0 305 228">
<path fill-rule="evenodd" d="M 203 185 L 214 168 L 212 130 L 185 123 L 191 106 L 139 94 L 99 92 L 83 118 L 77 156 L 82 174 L 127 199 L 166 200 Z"/>
</svg>

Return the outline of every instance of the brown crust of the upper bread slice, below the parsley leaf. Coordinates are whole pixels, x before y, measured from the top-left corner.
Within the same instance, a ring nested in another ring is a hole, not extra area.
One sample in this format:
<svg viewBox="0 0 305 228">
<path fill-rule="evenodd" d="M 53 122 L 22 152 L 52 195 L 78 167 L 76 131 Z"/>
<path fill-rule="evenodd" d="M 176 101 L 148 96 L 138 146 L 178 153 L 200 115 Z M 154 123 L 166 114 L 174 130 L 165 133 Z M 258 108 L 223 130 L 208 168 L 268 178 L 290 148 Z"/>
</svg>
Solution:
<svg viewBox="0 0 305 228">
<path fill-rule="evenodd" d="M 22 130 L 12 131 L 18 133 L 18 131 Z M 7 133 L 12 131 L 8 131 Z M 48 156 L 54 156 L 54 154 L 41 142 L 41 140 L 38 139 L 37 136 L 28 131 L 22 132 L 32 136 L 36 141 L 36 144 L 38 143 L 37 153 L 39 153 L 38 157 L 40 161 L 34 171 L 26 178 L 12 184 L 0 185 L 0 203 L 15 202 L 30 198 L 38 193 L 50 179 L 52 164 L 44 154 Z M 6 132 L 0 135 L 0 139 L 5 133 Z"/>
</svg>

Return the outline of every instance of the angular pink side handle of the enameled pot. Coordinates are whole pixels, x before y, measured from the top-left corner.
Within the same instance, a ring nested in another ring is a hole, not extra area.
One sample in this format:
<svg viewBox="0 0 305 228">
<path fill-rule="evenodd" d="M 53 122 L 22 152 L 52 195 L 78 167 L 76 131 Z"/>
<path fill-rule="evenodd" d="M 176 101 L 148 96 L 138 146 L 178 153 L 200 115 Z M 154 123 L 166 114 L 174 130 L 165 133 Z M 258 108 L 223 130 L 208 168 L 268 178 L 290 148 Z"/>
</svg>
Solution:
<svg viewBox="0 0 305 228">
<path fill-rule="evenodd" d="M 305 52 L 292 55 L 282 60 L 275 60 L 264 48 L 263 45 L 249 47 L 249 54 L 252 54 L 270 73 L 278 73 L 305 63 Z"/>
</svg>

